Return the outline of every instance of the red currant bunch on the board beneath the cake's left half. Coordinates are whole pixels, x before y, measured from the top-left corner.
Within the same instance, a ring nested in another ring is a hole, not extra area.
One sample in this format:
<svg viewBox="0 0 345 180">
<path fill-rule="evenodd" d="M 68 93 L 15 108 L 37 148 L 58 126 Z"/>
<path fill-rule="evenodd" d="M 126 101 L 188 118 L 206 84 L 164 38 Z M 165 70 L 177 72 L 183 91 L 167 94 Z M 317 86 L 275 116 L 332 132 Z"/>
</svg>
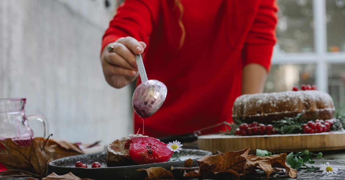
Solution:
<svg viewBox="0 0 345 180">
<path fill-rule="evenodd" d="M 235 130 L 235 134 L 239 136 L 252 136 L 252 135 L 271 135 L 276 134 L 276 129 L 273 128 L 272 124 L 258 124 L 258 122 L 254 121 L 250 124 L 243 123 L 240 124 L 239 127 Z"/>
</svg>

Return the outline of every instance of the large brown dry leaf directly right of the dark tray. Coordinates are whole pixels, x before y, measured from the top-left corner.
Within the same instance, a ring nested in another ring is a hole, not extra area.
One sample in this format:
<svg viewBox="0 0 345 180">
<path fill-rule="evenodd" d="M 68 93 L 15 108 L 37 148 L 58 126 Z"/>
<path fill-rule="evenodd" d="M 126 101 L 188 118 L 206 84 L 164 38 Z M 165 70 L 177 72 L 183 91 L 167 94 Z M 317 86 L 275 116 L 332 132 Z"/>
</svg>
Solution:
<svg viewBox="0 0 345 180">
<path fill-rule="evenodd" d="M 249 148 L 205 156 L 197 160 L 199 169 L 185 173 L 185 177 L 235 178 L 245 172 Z"/>
</svg>

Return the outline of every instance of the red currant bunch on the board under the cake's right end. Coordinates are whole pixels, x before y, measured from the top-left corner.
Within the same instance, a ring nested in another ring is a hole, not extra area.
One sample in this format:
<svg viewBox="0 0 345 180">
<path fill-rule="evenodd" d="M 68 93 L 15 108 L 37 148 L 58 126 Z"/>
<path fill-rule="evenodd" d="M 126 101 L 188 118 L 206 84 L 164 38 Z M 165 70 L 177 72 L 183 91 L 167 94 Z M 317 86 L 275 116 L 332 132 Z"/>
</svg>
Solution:
<svg viewBox="0 0 345 180">
<path fill-rule="evenodd" d="M 333 126 L 333 121 L 329 120 L 318 120 L 316 119 L 313 121 L 308 121 L 306 124 L 303 124 L 303 134 L 313 134 L 313 133 L 320 133 L 320 132 L 329 132 L 331 131 L 331 127 Z"/>
</svg>

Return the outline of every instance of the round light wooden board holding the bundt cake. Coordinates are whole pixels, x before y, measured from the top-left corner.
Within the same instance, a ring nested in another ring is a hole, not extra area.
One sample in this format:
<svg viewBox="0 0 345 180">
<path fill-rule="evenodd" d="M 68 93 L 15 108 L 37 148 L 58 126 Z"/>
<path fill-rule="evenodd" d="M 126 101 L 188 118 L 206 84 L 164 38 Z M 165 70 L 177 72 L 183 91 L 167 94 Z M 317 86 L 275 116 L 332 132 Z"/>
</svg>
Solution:
<svg viewBox="0 0 345 180">
<path fill-rule="evenodd" d="M 199 149 L 211 151 L 239 151 L 247 147 L 250 153 L 256 149 L 269 152 L 324 151 L 345 149 L 345 132 L 315 134 L 275 134 L 263 136 L 230 136 L 210 134 L 198 137 Z"/>
</svg>

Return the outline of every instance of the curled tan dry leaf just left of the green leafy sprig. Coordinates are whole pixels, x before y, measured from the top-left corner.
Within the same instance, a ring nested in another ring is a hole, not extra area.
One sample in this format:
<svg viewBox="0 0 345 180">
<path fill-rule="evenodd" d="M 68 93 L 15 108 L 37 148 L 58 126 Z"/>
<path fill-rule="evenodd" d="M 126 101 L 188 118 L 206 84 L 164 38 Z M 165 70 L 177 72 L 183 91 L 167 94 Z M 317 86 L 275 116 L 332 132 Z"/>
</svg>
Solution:
<svg viewBox="0 0 345 180">
<path fill-rule="evenodd" d="M 267 179 L 272 172 L 286 169 L 285 174 L 289 174 L 290 178 L 296 178 L 297 171 L 289 167 L 286 163 L 286 153 L 275 154 L 272 156 L 256 156 L 248 155 L 246 172 L 254 172 L 255 169 L 262 169 L 267 174 Z"/>
</svg>

